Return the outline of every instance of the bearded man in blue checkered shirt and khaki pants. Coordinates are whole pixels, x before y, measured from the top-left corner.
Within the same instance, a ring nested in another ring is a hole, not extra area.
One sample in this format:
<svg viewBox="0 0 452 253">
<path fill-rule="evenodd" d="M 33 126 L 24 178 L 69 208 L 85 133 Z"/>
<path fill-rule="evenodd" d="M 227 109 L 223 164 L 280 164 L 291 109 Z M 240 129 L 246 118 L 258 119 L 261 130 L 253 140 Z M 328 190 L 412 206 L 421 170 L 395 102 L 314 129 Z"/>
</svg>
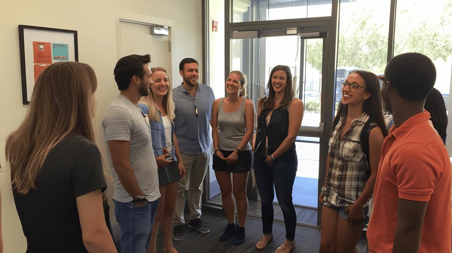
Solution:
<svg viewBox="0 0 452 253">
<path fill-rule="evenodd" d="M 212 88 L 198 83 L 198 61 L 185 58 L 179 64 L 179 73 L 183 78 L 181 85 L 173 89 L 173 101 L 176 117 L 174 132 L 179 142 L 179 150 L 187 174 L 178 183 L 176 207 L 174 211 L 174 240 L 183 240 L 184 234 L 184 191 L 188 181 L 188 206 L 190 208 L 189 227 L 202 234 L 210 232 L 202 223 L 201 196 L 202 181 L 207 172 L 210 155 L 209 121 L 212 103 L 215 100 Z"/>
</svg>

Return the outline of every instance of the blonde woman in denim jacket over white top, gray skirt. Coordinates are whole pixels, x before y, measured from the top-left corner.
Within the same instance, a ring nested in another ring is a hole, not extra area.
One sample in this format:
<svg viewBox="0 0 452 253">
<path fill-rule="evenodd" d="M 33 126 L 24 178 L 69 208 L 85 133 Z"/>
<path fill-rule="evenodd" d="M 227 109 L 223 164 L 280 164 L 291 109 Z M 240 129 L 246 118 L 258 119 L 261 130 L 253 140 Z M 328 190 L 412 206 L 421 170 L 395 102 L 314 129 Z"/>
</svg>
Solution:
<svg viewBox="0 0 452 253">
<path fill-rule="evenodd" d="M 152 148 L 157 162 L 167 164 L 159 168 L 160 204 L 152 226 L 148 251 L 155 253 L 155 244 L 162 221 L 165 238 L 164 253 L 177 253 L 172 242 L 173 216 L 176 204 L 177 182 L 185 176 L 184 163 L 179 153 L 177 139 L 174 136 L 174 102 L 171 96 L 171 84 L 166 70 L 161 67 L 151 68 L 148 96 L 141 98 L 138 107 L 148 114 L 151 123 Z M 143 154 L 145 155 L 145 154 Z M 146 154 L 147 155 L 147 154 Z"/>
</svg>

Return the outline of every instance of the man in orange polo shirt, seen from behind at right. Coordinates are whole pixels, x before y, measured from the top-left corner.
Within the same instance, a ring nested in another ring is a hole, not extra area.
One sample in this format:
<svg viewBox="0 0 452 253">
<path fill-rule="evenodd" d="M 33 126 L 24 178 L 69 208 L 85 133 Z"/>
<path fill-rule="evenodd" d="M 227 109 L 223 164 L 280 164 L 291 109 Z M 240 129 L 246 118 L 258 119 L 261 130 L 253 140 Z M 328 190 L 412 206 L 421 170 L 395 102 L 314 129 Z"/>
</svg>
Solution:
<svg viewBox="0 0 452 253">
<path fill-rule="evenodd" d="M 451 163 L 424 111 L 436 80 L 433 62 L 419 53 L 389 61 L 381 96 L 393 108 L 367 229 L 371 253 L 451 253 Z"/>
</svg>

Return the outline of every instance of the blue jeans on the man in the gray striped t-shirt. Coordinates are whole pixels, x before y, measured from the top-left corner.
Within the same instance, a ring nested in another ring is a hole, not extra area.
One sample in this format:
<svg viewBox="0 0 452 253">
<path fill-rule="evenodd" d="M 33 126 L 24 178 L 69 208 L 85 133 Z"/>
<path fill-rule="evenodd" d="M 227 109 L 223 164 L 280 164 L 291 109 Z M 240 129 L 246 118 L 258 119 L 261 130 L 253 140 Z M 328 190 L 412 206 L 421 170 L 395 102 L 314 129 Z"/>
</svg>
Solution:
<svg viewBox="0 0 452 253">
<path fill-rule="evenodd" d="M 121 230 L 121 253 L 144 253 L 151 239 L 152 224 L 159 200 L 146 201 L 143 206 L 134 202 L 114 202 L 114 214 Z"/>
</svg>

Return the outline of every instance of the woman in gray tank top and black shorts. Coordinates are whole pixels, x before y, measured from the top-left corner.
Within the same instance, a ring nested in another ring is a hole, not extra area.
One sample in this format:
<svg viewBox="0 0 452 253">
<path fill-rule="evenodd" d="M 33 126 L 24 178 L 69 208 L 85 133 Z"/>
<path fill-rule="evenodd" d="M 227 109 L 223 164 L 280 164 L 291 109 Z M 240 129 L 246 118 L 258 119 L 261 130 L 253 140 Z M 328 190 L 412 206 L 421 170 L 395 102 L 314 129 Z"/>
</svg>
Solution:
<svg viewBox="0 0 452 253">
<path fill-rule="evenodd" d="M 254 131 L 254 103 L 245 98 L 246 76 L 232 71 L 226 80 L 226 98 L 212 105 L 212 139 L 215 148 L 212 169 L 215 170 L 221 190 L 221 201 L 228 225 L 220 236 L 226 242 L 232 237 L 234 245 L 245 242 L 245 219 L 248 212 L 246 183 L 253 167 L 250 140 Z M 237 199 L 239 225 L 235 224 L 234 191 Z"/>
</svg>

